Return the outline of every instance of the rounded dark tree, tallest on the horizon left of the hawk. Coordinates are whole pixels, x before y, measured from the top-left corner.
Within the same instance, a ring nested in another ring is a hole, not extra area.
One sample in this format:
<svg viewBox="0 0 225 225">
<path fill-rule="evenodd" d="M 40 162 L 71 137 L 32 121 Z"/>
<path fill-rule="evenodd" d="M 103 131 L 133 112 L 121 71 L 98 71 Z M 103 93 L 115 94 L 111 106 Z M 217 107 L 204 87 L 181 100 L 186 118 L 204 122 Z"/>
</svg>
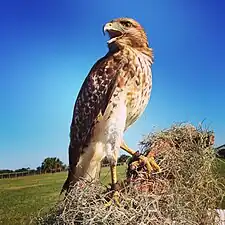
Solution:
<svg viewBox="0 0 225 225">
<path fill-rule="evenodd" d="M 65 165 L 63 162 L 56 157 L 48 157 L 44 159 L 41 164 L 41 170 L 50 173 L 50 172 L 57 172 L 65 169 Z"/>
</svg>

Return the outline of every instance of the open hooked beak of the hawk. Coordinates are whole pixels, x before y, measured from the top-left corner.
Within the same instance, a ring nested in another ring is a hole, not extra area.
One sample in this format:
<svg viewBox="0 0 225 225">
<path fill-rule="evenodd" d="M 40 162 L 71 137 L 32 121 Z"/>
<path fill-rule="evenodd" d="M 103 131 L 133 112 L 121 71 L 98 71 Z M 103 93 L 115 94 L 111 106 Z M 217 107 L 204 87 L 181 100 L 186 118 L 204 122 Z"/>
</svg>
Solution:
<svg viewBox="0 0 225 225">
<path fill-rule="evenodd" d="M 110 22 L 103 26 L 103 34 L 105 35 L 106 32 L 109 34 L 110 42 L 112 42 L 115 40 L 114 38 L 121 36 L 124 31 L 119 23 Z"/>
</svg>

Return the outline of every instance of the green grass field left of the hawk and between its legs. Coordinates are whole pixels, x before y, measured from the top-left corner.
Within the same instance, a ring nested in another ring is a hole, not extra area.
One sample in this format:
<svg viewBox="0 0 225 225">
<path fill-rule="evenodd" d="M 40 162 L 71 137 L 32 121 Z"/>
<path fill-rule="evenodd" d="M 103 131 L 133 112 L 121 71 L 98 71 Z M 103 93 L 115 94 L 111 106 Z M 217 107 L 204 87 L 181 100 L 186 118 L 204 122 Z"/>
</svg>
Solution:
<svg viewBox="0 0 225 225">
<path fill-rule="evenodd" d="M 118 167 L 120 178 L 125 167 Z M 48 211 L 59 199 L 66 172 L 0 180 L 0 224 L 30 224 L 32 218 Z M 101 182 L 110 183 L 110 170 L 103 168 Z"/>
</svg>

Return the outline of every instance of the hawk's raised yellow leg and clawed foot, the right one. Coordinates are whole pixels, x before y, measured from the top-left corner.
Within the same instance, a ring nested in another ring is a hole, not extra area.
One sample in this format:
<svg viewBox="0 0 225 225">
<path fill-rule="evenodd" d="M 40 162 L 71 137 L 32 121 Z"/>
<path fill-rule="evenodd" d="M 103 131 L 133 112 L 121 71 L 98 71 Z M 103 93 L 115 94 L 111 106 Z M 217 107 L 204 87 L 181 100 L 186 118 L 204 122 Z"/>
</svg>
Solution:
<svg viewBox="0 0 225 225">
<path fill-rule="evenodd" d="M 126 151 L 127 153 L 131 154 L 132 156 L 137 155 L 137 153 L 134 150 L 132 150 L 131 148 L 129 148 L 124 141 L 120 145 L 120 148 L 123 149 L 124 151 Z M 153 168 L 158 172 L 160 171 L 160 167 L 156 163 L 156 161 L 152 155 L 150 155 L 148 157 L 140 155 L 138 157 L 141 161 L 143 161 L 145 163 L 149 173 L 153 170 Z"/>
</svg>

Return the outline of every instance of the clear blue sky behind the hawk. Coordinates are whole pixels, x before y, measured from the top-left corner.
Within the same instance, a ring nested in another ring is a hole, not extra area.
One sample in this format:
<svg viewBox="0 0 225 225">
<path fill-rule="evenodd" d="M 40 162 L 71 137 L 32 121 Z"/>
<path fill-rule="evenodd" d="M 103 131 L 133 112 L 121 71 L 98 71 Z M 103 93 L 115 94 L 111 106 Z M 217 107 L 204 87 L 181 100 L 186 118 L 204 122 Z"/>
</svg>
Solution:
<svg viewBox="0 0 225 225">
<path fill-rule="evenodd" d="M 222 0 L 2 0 L 0 168 L 35 168 L 49 156 L 67 163 L 76 96 L 107 52 L 102 26 L 124 16 L 143 25 L 155 55 L 151 100 L 127 143 L 204 119 L 225 143 L 224 11 Z"/>
</svg>

